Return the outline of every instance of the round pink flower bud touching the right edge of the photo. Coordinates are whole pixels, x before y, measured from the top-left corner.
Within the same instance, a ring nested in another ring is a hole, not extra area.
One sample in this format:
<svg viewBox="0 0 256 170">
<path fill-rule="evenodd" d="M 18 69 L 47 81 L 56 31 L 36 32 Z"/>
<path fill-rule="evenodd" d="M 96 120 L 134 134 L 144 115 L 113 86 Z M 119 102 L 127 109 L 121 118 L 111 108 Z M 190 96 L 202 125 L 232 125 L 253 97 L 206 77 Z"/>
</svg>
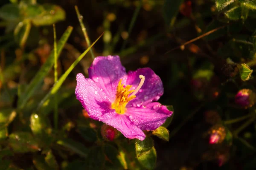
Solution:
<svg viewBox="0 0 256 170">
<path fill-rule="evenodd" d="M 243 108 L 250 108 L 254 105 L 255 94 L 250 89 L 240 90 L 235 97 L 235 102 Z"/>
</svg>

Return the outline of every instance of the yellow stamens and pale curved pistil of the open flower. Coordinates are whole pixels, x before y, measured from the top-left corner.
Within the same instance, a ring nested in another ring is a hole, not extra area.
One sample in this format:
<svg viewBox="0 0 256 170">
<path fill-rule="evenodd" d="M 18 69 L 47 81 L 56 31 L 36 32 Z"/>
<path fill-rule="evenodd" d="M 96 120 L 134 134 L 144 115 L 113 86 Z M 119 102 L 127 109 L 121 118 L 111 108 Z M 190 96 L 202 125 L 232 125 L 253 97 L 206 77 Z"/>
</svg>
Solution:
<svg viewBox="0 0 256 170">
<path fill-rule="evenodd" d="M 137 92 L 140 90 L 141 86 L 145 81 L 145 77 L 143 75 L 140 75 L 140 79 L 140 84 L 135 90 L 130 90 L 132 85 L 126 85 L 126 87 L 124 88 L 124 85 L 122 84 L 122 79 L 120 79 L 116 87 L 116 99 L 111 105 L 111 107 L 116 110 L 116 113 L 125 113 L 125 106 L 128 102 L 130 102 L 132 99 L 136 97 L 135 94 L 137 94 Z"/>
</svg>

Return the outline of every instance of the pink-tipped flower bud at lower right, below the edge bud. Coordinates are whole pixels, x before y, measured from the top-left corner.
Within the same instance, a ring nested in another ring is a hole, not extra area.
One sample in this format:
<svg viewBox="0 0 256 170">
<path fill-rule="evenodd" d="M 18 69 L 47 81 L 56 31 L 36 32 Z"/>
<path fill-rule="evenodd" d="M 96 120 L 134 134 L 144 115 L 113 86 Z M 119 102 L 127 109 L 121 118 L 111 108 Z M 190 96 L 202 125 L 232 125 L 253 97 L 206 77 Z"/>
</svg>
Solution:
<svg viewBox="0 0 256 170">
<path fill-rule="evenodd" d="M 225 127 L 222 125 L 215 125 L 209 130 L 209 135 L 209 144 L 221 143 L 226 137 Z"/>
</svg>

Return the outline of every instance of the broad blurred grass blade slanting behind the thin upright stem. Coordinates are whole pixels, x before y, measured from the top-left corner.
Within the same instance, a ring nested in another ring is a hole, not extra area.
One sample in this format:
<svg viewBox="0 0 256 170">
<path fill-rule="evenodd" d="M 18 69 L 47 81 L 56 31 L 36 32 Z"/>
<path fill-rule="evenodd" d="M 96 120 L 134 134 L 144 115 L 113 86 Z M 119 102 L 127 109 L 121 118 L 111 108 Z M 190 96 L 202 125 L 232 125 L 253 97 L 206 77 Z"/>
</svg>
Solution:
<svg viewBox="0 0 256 170">
<path fill-rule="evenodd" d="M 64 32 L 64 34 L 62 35 L 61 39 L 59 40 L 57 45 L 57 58 L 59 57 L 64 47 L 64 44 L 67 42 L 67 39 L 70 36 L 72 30 L 73 30 L 73 27 L 69 26 L 67 30 Z M 43 81 L 44 77 L 48 74 L 53 64 L 54 64 L 54 50 L 51 52 L 47 61 L 44 63 L 44 65 L 42 65 L 38 73 L 29 83 L 28 87 L 26 88 L 26 91 L 18 100 L 18 109 L 23 109 L 28 99 L 35 93 L 36 89 L 41 85 L 41 82 Z"/>
</svg>

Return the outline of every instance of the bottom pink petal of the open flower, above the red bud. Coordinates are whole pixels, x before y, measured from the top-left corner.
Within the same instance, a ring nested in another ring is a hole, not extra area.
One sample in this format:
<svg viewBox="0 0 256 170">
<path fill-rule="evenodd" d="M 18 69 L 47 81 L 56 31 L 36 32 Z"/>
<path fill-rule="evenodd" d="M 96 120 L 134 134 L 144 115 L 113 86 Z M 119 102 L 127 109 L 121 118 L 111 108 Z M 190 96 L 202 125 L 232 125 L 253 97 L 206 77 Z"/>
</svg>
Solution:
<svg viewBox="0 0 256 170">
<path fill-rule="evenodd" d="M 100 121 L 119 130 L 126 138 L 129 139 L 145 139 L 145 133 L 134 125 L 133 122 L 124 114 L 117 114 L 115 110 L 102 114 Z"/>
</svg>

